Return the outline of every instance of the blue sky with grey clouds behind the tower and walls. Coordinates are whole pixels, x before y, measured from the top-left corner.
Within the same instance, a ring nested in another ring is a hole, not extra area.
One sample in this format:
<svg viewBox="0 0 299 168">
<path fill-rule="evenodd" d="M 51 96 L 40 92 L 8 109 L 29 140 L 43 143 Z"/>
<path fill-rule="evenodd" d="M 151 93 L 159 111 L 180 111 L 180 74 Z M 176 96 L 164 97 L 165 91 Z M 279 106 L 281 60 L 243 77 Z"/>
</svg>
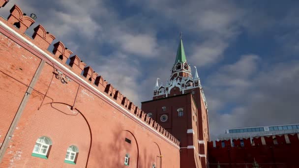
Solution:
<svg viewBox="0 0 299 168">
<path fill-rule="evenodd" d="M 182 39 L 213 139 L 225 129 L 299 123 L 298 0 L 10 0 L 136 105 L 165 83 Z M 194 73 L 193 73 L 194 74 Z"/>
</svg>

